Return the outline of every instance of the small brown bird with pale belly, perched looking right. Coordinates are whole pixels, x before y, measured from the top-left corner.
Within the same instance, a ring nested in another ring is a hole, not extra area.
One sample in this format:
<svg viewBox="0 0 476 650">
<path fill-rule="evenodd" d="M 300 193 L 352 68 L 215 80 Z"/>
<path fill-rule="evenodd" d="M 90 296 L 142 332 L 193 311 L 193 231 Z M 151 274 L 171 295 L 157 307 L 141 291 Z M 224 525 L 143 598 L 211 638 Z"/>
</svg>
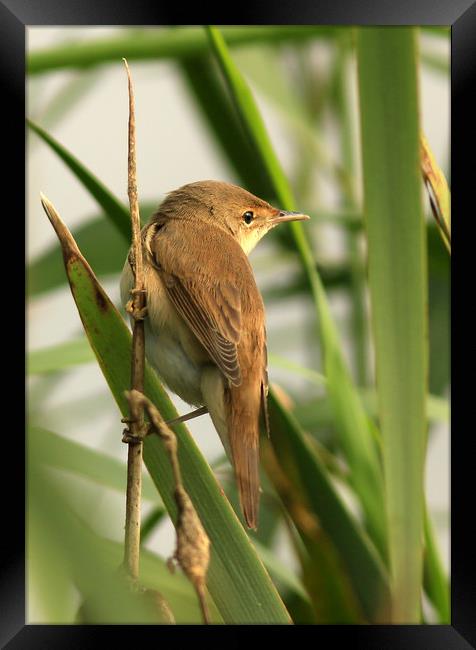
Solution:
<svg viewBox="0 0 476 650">
<path fill-rule="evenodd" d="M 245 213 L 253 214 L 250 223 Z M 268 388 L 264 305 L 247 253 L 276 223 L 294 218 L 307 217 L 282 213 L 237 186 L 202 181 L 170 193 L 142 231 L 147 356 L 182 399 L 208 408 L 251 528 Z M 126 261 L 124 302 L 131 280 Z"/>
</svg>

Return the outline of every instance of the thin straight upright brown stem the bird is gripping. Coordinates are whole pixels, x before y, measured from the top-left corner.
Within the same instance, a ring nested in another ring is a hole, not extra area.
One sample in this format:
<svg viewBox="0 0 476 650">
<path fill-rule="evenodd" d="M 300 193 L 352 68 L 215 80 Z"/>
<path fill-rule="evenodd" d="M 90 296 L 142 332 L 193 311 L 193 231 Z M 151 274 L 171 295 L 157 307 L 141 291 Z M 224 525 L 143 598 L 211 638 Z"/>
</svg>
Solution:
<svg viewBox="0 0 476 650">
<path fill-rule="evenodd" d="M 142 244 L 140 232 L 139 205 L 137 201 L 136 182 L 136 141 L 134 91 L 131 75 L 126 59 L 123 59 L 127 70 L 129 87 L 129 152 L 128 152 L 128 196 L 132 223 L 132 270 L 134 273 L 134 289 L 128 311 L 134 319 L 132 334 L 131 388 L 143 392 L 145 338 L 144 338 L 144 271 L 142 264 Z M 125 440 L 129 443 L 127 454 L 127 492 L 126 492 L 126 525 L 124 543 L 124 567 L 134 582 L 139 577 L 140 553 L 140 511 L 142 488 L 142 432 L 144 427 L 144 412 L 140 404 L 130 406 L 130 430 Z"/>
</svg>

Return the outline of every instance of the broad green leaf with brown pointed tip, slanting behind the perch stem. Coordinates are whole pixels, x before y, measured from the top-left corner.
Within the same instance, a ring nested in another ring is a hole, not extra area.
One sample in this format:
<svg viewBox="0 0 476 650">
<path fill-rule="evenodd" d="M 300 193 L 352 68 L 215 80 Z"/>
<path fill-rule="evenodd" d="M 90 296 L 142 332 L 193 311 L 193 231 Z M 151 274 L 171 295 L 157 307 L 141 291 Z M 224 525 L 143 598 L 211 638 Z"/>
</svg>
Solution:
<svg viewBox="0 0 476 650">
<path fill-rule="evenodd" d="M 124 391 L 130 385 L 130 332 L 53 206 L 47 202 L 44 206 L 62 244 L 71 290 L 89 342 L 122 414 L 127 416 Z M 145 393 L 164 419 L 177 416 L 148 365 Z M 271 579 L 187 428 L 177 425 L 175 431 L 184 486 L 211 541 L 207 586 L 221 616 L 228 623 L 289 623 L 289 615 Z M 172 470 L 167 453 L 156 436 L 148 436 L 145 440 L 144 461 L 175 521 Z"/>
</svg>

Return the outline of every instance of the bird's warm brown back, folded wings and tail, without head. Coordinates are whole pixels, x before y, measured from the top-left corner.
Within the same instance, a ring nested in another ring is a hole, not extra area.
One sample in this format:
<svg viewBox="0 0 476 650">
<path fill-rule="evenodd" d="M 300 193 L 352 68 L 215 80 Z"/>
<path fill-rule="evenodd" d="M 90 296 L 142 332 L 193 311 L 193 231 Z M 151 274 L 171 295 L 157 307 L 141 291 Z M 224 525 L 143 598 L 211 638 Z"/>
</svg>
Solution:
<svg viewBox="0 0 476 650">
<path fill-rule="evenodd" d="M 261 411 L 267 422 L 263 301 L 248 258 L 232 236 L 210 224 L 191 222 L 188 232 L 197 245 L 184 247 L 182 228 L 166 222 L 150 251 L 170 301 L 228 380 L 231 460 L 246 523 L 256 528 Z M 211 240 L 213 256 L 206 254 L 209 246 L 200 245 L 204 240 Z"/>
</svg>

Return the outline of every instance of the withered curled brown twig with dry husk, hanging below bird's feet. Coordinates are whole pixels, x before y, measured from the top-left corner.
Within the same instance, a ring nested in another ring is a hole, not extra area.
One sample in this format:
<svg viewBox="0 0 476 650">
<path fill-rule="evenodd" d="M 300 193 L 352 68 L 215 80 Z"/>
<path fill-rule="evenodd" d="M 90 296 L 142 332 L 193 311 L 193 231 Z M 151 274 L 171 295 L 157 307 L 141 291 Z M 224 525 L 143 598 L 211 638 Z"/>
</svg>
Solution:
<svg viewBox="0 0 476 650">
<path fill-rule="evenodd" d="M 210 561 L 210 540 L 183 486 L 177 456 L 177 438 L 172 429 L 167 426 L 159 411 L 145 395 L 137 390 L 131 390 L 126 393 L 126 397 L 131 411 L 136 408 L 145 408 L 152 430 L 163 440 L 170 456 L 175 479 L 174 497 L 178 509 L 176 523 L 177 549 L 174 559 L 177 560 L 183 572 L 195 587 L 203 619 L 205 623 L 210 623 L 210 614 L 205 597 L 206 575 Z"/>
</svg>

